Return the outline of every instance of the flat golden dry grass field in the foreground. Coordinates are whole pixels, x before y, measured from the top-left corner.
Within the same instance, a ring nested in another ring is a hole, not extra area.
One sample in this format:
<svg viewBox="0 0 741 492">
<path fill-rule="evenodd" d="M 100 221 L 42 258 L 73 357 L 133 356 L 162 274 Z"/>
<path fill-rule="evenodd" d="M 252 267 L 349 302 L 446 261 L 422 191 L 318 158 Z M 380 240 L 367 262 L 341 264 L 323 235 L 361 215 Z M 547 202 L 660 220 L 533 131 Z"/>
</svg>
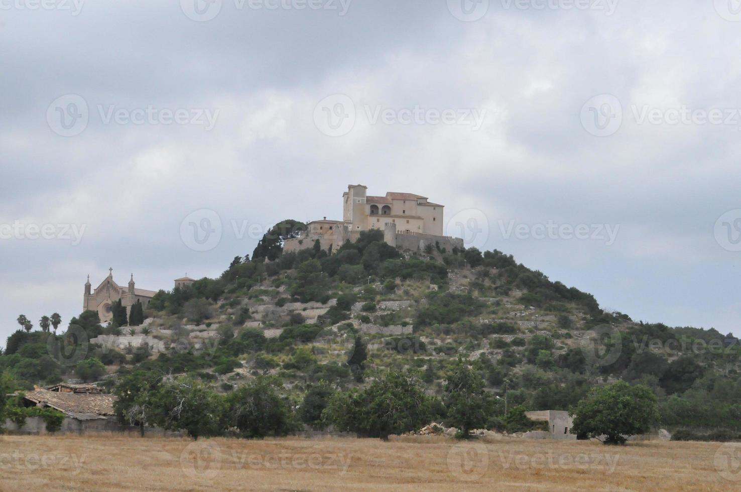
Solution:
<svg viewBox="0 0 741 492">
<path fill-rule="evenodd" d="M 0 436 L 0 490 L 738 491 L 740 447 Z"/>
</svg>

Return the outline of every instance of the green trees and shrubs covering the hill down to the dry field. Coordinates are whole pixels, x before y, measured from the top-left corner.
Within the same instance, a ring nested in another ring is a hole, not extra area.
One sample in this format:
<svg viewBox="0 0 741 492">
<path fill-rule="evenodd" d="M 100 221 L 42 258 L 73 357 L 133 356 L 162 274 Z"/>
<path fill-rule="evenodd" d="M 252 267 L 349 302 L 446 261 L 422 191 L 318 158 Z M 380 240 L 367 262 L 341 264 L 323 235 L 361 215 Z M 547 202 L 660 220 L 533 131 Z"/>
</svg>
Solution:
<svg viewBox="0 0 741 492">
<path fill-rule="evenodd" d="M 116 309 L 105 326 L 87 311 L 57 335 L 58 315 L 42 319 L 39 331 L 19 316 L 21 329 L 0 354 L 3 384 L 102 382 L 119 395 L 122 422 L 193 436 L 333 425 L 386 437 L 431 420 L 462 437 L 481 427 L 530 430 L 537 425 L 525 410 L 588 408 L 600 388 L 619 381 L 647 388 L 657 402 L 655 425 L 741 427 L 740 348 L 732 336 L 605 312 L 590 294 L 496 250 L 399 251 L 369 231 L 333 252 L 318 244 L 284 252 L 282 241 L 303 228 L 283 221 L 251 259 L 237 256 L 216 279 L 161 290 L 146 310 Z M 384 305 L 396 301 L 407 304 Z M 317 308 L 322 313 L 312 315 Z M 596 349 L 617 353 L 614 360 L 584 350 L 591 330 L 608 331 Z M 217 336 L 196 343 L 194 331 Z M 87 344 L 131 333 L 159 344 Z M 597 432 L 580 425 L 585 435 Z"/>
</svg>

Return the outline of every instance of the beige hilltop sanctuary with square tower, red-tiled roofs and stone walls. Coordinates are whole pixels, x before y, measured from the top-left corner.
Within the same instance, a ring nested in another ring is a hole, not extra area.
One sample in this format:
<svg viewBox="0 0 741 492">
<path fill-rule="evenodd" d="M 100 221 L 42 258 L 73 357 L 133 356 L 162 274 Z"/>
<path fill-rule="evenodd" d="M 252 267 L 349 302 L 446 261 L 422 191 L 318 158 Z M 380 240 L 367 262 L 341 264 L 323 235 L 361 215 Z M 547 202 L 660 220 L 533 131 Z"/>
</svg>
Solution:
<svg viewBox="0 0 741 492">
<path fill-rule="evenodd" d="M 346 241 L 354 242 L 363 230 L 382 230 L 384 240 L 393 247 L 423 250 L 428 244 L 448 250 L 463 247 L 463 240 L 443 235 L 444 205 L 433 203 L 426 196 L 414 193 L 386 193 L 372 196 L 368 187 L 348 185 L 342 193 L 342 220 L 309 222 L 302 236 L 288 239 L 286 251 L 313 247 L 319 240 L 323 250 L 336 251 Z"/>
</svg>

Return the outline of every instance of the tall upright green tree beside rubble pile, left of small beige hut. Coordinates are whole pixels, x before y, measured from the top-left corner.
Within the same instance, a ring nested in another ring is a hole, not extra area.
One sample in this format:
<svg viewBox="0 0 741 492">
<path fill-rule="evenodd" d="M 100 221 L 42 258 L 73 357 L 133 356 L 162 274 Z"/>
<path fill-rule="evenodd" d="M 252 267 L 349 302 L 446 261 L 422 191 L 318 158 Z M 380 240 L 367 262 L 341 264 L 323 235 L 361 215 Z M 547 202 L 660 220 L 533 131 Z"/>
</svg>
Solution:
<svg viewBox="0 0 741 492">
<path fill-rule="evenodd" d="M 463 439 L 468 439 L 471 429 L 486 424 L 491 402 L 484 380 L 460 356 L 446 378 L 443 402 L 448 408 L 447 422 L 460 429 Z"/>
</svg>

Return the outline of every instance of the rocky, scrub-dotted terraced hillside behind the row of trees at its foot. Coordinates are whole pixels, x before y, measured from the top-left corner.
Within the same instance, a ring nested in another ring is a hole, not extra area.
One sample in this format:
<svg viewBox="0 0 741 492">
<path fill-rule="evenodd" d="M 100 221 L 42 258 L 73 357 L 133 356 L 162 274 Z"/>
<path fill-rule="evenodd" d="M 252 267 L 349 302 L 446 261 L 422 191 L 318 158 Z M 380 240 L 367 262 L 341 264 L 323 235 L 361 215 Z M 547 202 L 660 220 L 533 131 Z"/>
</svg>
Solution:
<svg viewBox="0 0 741 492">
<path fill-rule="evenodd" d="M 135 370 L 187 374 L 222 394 L 274 376 L 301 408 L 316 388 L 366 387 L 388 369 L 411 370 L 439 395 L 460 356 L 501 398 L 493 416 L 505 400 L 568 410 L 592 386 L 623 379 L 654 391 L 662 427 L 741 425 L 731 336 L 605 312 L 590 294 L 496 250 L 399 251 L 370 232 L 334 254 L 318 245 L 282 253 L 269 235 L 218 279 L 160 291 L 142 325 L 103 327 L 90 311 L 70 320 L 67 333 L 91 341 L 71 358 L 53 353 L 47 333 L 19 330 L 0 371 L 25 389 L 67 379 L 113 389 Z M 300 415 L 318 424 L 321 410 Z"/>
</svg>

